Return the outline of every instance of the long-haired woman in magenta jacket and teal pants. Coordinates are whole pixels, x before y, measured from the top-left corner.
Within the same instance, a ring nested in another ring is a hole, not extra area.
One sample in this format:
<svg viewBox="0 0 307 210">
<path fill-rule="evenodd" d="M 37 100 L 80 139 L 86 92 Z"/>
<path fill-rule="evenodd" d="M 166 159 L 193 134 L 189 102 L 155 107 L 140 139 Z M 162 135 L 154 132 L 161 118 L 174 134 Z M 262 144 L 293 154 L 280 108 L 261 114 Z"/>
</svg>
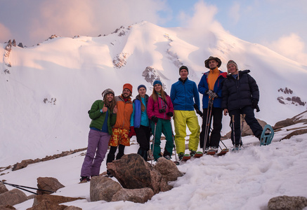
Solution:
<svg viewBox="0 0 307 210">
<path fill-rule="evenodd" d="M 164 92 L 160 80 L 155 80 L 152 94 L 148 99 L 147 113 L 151 120 L 152 134 L 155 134 L 155 144 L 152 146 L 153 156 L 155 160 L 162 157 L 161 155 L 161 134 L 166 139 L 163 157 L 171 159 L 173 152 L 173 135 L 171 130 L 171 117 L 174 115 L 174 107 L 171 98 Z"/>
</svg>

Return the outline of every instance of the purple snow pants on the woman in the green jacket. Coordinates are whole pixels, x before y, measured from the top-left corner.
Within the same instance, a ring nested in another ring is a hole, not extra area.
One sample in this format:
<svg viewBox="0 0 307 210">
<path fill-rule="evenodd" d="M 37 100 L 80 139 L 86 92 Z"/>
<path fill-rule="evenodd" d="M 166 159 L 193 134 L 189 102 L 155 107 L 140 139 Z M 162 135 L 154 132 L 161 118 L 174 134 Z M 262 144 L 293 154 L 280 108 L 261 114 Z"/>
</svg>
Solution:
<svg viewBox="0 0 307 210">
<path fill-rule="evenodd" d="M 89 131 L 89 144 L 81 168 L 81 176 L 90 177 L 99 175 L 101 162 L 103 162 L 105 153 L 107 153 L 107 144 L 109 143 L 110 137 L 110 134 L 105 132 L 92 129 Z"/>
</svg>

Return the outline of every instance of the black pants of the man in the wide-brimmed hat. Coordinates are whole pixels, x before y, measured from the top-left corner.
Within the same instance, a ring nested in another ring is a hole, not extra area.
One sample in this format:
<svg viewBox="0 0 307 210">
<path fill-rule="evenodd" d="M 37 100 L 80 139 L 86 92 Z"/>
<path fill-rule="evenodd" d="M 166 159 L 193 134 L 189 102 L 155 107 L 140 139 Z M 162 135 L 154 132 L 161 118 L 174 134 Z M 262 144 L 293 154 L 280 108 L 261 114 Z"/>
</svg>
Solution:
<svg viewBox="0 0 307 210">
<path fill-rule="evenodd" d="M 213 107 L 211 111 L 211 118 L 209 120 L 209 125 L 206 125 L 207 117 L 210 116 L 210 110 L 208 113 L 208 109 L 203 109 L 204 116 L 202 117 L 202 132 L 200 132 L 200 148 L 204 148 L 204 134 L 206 127 L 209 128 L 209 132 L 207 134 L 206 146 L 216 146 L 220 144 L 221 140 L 221 130 L 222 130 L 222 118 L 223 118 L 223 109 Z M 208 116 L 207 116 L 208 115 Z M 211 121 L 213 119 L 213 130 L 210 134 Z"/>
</svg>

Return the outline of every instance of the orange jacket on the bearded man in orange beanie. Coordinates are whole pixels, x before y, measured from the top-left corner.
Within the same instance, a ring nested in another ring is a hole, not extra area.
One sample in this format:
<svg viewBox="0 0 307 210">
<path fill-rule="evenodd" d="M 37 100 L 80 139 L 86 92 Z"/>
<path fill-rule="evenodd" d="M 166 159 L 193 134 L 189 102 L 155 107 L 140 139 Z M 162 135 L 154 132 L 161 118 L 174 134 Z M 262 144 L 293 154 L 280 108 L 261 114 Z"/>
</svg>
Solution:
<svg viewBox="0 0 307 210">
<path fill-rule="evenodd" d="M 130 118 L 133 111 L 133 104 L 131 98 L 127 102 L 124 101 L 122 95 L 115 97 L 117 104 L 116 123 L 113 127 L 130 129 Z"/>
</svg>

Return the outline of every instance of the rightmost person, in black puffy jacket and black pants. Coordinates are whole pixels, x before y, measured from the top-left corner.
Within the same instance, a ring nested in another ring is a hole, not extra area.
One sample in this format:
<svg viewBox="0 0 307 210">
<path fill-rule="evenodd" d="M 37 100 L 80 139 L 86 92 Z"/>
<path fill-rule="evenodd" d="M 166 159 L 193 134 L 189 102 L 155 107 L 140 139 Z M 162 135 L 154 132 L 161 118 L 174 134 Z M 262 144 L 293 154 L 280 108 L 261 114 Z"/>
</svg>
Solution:
<svg viewBox="0 0 307 210">
<path fill-rule="evenodd" d="M 259 110 L 259 88 L 256 80 L 249 75 L 249 70 L 239 71 L 237 64 L 230 60 L 227 63 L 228 76 L 223 80 L 222 109 L 224 115 L 229 113 L 231 121 L 234 118 L 235 139 L 233 139 L 233 126 L 231 139 L 235 149 L 242 146 L 240 131 L 240 114 L 245 114 L 245 121 L 251 128 L 255 137 L 260 139 L 263 128 L 254 116 L 254 109 Z M 234 117 L 233 117 L 234 116 Z"/>
</svg>

